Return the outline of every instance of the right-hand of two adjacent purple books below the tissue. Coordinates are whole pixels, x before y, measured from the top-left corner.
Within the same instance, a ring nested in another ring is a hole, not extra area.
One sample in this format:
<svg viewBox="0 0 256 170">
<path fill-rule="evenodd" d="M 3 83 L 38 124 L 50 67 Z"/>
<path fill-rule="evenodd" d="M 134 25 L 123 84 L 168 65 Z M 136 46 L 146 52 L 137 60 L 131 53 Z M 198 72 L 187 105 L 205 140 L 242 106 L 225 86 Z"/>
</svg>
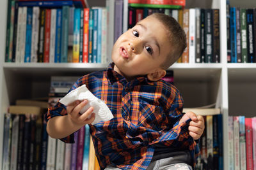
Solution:
<svg viewBox="0 0 256 170">
<path fill-rule="evenodd" d="M 77 136 L 77 157 L 76 157 L 76 169 L 83 169 L 83 155 L 84 155 L 84 135 L 85 135 L 85 127 L 81 127 L 78 131 Z"/>
</svg>

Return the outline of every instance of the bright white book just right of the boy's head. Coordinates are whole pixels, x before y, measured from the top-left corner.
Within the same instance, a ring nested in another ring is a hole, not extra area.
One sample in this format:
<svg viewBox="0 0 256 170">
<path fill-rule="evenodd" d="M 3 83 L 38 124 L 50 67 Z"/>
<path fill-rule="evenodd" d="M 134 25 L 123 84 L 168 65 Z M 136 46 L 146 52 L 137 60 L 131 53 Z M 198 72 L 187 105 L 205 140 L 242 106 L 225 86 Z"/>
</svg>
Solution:
<svg viewBox="0 0 256 170">
<path fill-rule="evenodd" d="M 189 63 L 195 63 L 196 55 L 196 14 L 195 8 L 189 9 Z"/>
</svg>

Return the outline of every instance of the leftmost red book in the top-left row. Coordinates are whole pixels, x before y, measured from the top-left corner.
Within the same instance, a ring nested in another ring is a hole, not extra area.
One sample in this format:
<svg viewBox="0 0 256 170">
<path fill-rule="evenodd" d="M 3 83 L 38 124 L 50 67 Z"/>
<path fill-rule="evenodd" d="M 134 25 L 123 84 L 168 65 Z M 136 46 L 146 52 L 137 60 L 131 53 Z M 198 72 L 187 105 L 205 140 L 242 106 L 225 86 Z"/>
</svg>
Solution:
<svg viewBox="0 0 256 170">
<path fill-rule="evenodd" d="M 45 10 L 44 62 L 49 62 L 51 35 L 51 9 Z"/>
</svg>

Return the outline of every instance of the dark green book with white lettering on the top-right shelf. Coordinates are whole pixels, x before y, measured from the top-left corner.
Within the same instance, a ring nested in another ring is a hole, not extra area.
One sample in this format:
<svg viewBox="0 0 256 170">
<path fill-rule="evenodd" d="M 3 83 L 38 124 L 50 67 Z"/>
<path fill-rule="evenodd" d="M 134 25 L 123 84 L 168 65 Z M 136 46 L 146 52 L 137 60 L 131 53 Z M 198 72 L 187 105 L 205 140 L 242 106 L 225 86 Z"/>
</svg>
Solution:
<svg viewBox="0 0 256 170">
<path fill-rule="evenodd" d="M 247 62 L 247 21 L 246 9 L 240 9 L 240 27 L 241 27 L 241 62 Z"/>
</svg>

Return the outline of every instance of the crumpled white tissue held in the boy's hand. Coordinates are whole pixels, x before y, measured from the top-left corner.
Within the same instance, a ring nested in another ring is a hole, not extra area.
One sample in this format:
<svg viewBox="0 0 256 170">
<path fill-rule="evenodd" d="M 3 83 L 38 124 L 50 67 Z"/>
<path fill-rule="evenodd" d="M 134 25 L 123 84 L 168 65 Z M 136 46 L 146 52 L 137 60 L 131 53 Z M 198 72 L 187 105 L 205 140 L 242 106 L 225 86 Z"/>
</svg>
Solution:
<svg viewBox="0 0 256 170">
<path fill-rule="evenodd" d="M 88 103 L 82 108 L 80 113 L 84 113 L 90 106 L 92 106 L 93 113 L 95 113 L 95 119 L 93 120 L 92 125 L 98 124 L 101 121 L 106 122 L 113 118 L 113 114 L 104 101 L 94 96 L 92 92 L 87 89 L 86 85 L 81 85 L 80 87 L 77 87 L 77 89 L 69 92 L 60 100 L 60 103 L 68 106 L 68 104 L 71 104 L 76 100 L 83 101 L 84 99 L 86 99 Z"/>
</svg>

